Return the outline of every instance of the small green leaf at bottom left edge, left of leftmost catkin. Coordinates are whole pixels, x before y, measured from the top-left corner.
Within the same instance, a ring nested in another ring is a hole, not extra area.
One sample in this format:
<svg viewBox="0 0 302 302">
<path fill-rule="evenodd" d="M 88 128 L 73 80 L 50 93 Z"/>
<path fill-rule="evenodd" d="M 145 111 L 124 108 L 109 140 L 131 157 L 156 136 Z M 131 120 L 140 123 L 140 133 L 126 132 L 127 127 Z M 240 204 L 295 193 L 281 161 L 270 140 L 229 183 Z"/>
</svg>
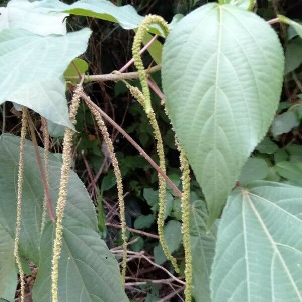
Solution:
<svg viewBox="0 0 302 302">
<path fill-rule="evenodd" d="M 11 235 L 0 225 L 0 298 L 14 302 L 16 287 L 17 270 L 14 241 Z"/>
</svg>

